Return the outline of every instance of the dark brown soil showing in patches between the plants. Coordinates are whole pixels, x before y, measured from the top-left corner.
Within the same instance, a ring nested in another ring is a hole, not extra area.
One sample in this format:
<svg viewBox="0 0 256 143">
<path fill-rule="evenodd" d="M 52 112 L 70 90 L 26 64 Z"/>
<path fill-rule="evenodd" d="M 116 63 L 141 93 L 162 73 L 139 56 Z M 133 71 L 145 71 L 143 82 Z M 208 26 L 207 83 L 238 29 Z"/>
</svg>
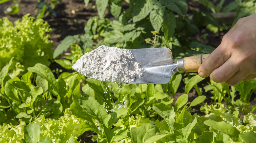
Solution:
<svg viewBox="0 0 256 143">
<path fill-rule="evenodd" d="M 188 13 L 192 13 L 192 10 L 198 10 L 198 9 L 207 11 L 207 8 L 205 8 L 195 0 L 186 0 L 186 1 L 189 5 Z M 226 5 L 230 1 L 231 0 L 226 0 L 224 5 Z M 5 14 L 4 10 L 8 6 L 11 6 L 13 4 L 14 3 L 12 3 L 12 1 L 8 1 L 6 3 L 0 4 L 0 18 L 8 17 L 8 19 L 11 22 L 14 22 L 18 19 L 21 20 L 22 16 L 27 13 L 30 13 L 31 16 L 36 17 L 37 13 L 35 12 L 35 10 L 37 6 L 37 0 L 22 0 L 19 5 L 20 10 L 17 14 L 15 15 Z M 53 31 L 50 33 L 50 37 L 51 37 L 50 39 L 53 40 L 53 44 L 55 45 L 52 47 L 53 50 L 66 36 L 84 34 L 84 25 L 86 24 L 87 20 L 90 17 L 97 15 L 97 9 L 95 8 L 94 5 L 95 5 L 95 0 L 90 1 L 87 7 L 85 7 L 84 0 L 62 0 L 62 2 L 58 3 L 56 5 L 56 8 L 54 9 L 57 12 L 57 14 L 44 18 L 44 20 L 51 25 L 51 28 L 53 28 Z M 127 4 L 126 2 L 123 2 L 122 5 L 124 6 L 123 8 L 129 7 L 129 4 Z M 115 19 L 110 14 L 107 15 L 107 17 L 109 19 Z M 227 32 L 227 31 L 222 31 L 214 34 L 212 32 L 207 31 L 205 27 L 201 28 L 200 30 L 201 30 L 201 33 L 195 34 L 194 36 L 202 43 L 211 45 L 213 47 L 217 47 L 221 43 L 222 37 Z M 201 37 L 204 34 L 208 34 L 206 39 Z M 51 65 L 51 69 L 56 69 L 56 68 L 63 69 L 58 64 L 53 63 Z M 63 69 L 63 71 L 66 71 L 66 70 Z M 200 82 L 198 86 L 203 88 L 207 84 L 207 82 L 209 82 L 209 78 L 206 78 L 205 80 Z M 184 83 L 181 82 L 180 87 L 182 88 L 179 88 L 178 93 L 175 95 L 175 100 L 184 93 L 184 86 L 185 86 Z M 195 97 L 198 96 L 195 89 L 191 90 L 191 92 L 188 95 L 189 95 L 189 102 L 191 102 Z M 203 93 L 203 95 L 210 95 L 210 93 Z M 256 97 L 255 94 L 253 94 L 250 102 L 251 105 L 255 105 L 253 101 L 255 97 Z M 210 98 L 210 96 L 207 96 L 205 102 L 210 104 L 210 103 L 213 103 L 213 100 Z M 201 115 L 203 114 L 202 112 L 200 112 L 200 105 L 196 106 L 196 110 L 191 112 L 200 113 Z M 92 143 L 93 142 L 91 140 L 92 135 L 93 134 L 91 132 L 85 132 L 83 135 L 78 137 L 78 141 L 80 141 L 81 143 Z"/>
</svg>

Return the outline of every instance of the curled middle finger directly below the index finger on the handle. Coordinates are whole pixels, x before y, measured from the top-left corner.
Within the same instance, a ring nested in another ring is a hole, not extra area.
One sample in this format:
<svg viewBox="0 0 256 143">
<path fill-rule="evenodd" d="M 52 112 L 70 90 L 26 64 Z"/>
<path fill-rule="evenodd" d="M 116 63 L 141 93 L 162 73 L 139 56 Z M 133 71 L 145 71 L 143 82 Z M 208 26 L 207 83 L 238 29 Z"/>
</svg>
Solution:
<svg viewBox="0 0 256 143">
<path fill-rule="evenodd" d="M 223 65 L 212 71 L 210 78 L 217 83 L 222 83 L 230 79 L 236 72 L 239 71 L 237 61 L 235 58 L 230 57 Z M 245 76 L 244 76 L 245 77 Z M 241 78 L 239 80 L 243 80 Z"/>
</svg>

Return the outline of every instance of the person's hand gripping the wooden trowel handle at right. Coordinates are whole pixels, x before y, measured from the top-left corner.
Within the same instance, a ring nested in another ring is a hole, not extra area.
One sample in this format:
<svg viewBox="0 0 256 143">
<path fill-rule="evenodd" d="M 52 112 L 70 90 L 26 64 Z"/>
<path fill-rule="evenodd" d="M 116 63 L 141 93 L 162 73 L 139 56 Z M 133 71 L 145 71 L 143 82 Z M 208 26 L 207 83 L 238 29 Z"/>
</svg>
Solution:
<svg viewBox="0 0 256 143">
<path fill-rule="evenodd" d="M 229 86 L 256 78 L 256 14 L 238 20 L 198 73 Z"/>
</svg>

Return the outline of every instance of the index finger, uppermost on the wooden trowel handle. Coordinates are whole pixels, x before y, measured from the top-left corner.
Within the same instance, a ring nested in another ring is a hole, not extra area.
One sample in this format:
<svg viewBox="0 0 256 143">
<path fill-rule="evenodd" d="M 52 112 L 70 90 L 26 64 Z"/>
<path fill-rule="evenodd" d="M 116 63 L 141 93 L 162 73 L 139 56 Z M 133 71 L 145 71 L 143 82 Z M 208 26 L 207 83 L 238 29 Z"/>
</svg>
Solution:
<svg viewBox="0 0 256 143">
<path fill-rule="evenodd" d="M 198 69 L 199 76 L 206 77 L 211 74 L 212 71 L 219 68 L 224 64 L 231 56 L 230 51 L 225 51 L 226 48 L 218 46 L 202 63 Z"/>
</svg>

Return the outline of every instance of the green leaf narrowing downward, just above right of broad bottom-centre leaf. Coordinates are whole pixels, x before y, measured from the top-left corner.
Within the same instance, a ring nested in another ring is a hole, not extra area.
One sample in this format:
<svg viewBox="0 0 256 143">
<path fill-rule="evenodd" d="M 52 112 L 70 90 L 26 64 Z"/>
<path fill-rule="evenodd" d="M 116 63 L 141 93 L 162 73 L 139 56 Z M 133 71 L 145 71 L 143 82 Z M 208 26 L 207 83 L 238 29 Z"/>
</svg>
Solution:
<svg viewBox="0 0 256 143">
<path fill-rule="evenodd" d="M 175 112 L 171 106 L 164 103 L 153 104 L 152 109 L 155 110 L 168 124 L 171 133 L 174 133 L 173 123 L 175 122 Z"/>
</svg>

